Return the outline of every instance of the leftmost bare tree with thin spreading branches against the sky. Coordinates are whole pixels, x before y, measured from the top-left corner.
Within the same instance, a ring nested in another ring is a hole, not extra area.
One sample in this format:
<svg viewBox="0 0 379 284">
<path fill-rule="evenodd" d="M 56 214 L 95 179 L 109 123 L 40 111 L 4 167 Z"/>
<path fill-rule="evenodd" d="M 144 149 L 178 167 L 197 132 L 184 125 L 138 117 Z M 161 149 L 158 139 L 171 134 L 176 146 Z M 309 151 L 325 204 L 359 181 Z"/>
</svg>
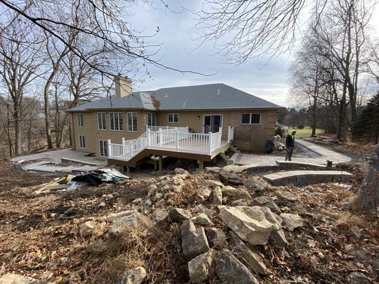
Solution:
<svg viewBox="0 0 379 284">
<path fill-rule="evenodd" d="M 33 28 L 18 15 L 8 13 L 9 25 L 0 33 L 0 67 L 3 87 L 11 98 L 9 109 L 14 121 L 14 154 L 21 154 L 21 121 L 23 97 L 26 87 L 38 77 L 36 73 L 41 66 L 41 38 L 33 33 Z M 9 104 L 9 101 L 6 101 Z M 9 128 L 8 128 L 9 129 Z M 9 133 L 10 135 L 10 133 Z M 11 151 L 9 143 L 9 151 Z"/>
</svg>

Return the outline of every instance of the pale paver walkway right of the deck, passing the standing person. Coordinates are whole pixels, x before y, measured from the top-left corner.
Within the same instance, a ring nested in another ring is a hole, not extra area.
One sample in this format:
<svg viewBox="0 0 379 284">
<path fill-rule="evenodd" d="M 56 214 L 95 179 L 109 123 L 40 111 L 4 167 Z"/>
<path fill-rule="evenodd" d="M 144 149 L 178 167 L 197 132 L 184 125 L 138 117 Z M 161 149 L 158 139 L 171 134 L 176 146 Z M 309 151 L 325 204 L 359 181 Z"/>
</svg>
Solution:
<svg viewBox="0 0 379 284">
<path fill-rule="evenodd" d="M 333 161 L 333 165 L 338 163 L 345 163 L 351 161 L 346 155 L 336 153 L 322 146 L 310 143 L 304 140 L 297 140 L 296 143 L 308 148 L 309 151 L 313 151 L 319 154 L 317 158 L 300 158 L 296 154 L 292 155 L 293 162 L 299 163 L 314 163 L 317 165 L 326 165 L 327 160 Z M 281 155 L 272 154 L 252 154 L 252 153 L 234 153 L 231 160 L 234 161 L 235 165 L 276 165 L 277 160 L 284 160 L 286 152 L 283 151 Z"/>
</svg>

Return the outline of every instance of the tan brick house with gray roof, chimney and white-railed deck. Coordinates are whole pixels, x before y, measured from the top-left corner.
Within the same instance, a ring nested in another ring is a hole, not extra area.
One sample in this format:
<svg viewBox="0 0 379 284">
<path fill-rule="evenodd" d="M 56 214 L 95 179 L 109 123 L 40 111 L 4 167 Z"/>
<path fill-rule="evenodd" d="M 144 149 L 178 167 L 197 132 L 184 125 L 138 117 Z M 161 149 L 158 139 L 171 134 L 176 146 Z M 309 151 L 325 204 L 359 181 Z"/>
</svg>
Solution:
<svg viewBox="0 0 379 284">
<path fill-rule="evenodd" d="M 193 158 L 202 166 L 232 142 L 263 152 L 282 109 L 226 84 L 132 92 L 129 78 L 114 81 L 115 96 L 68 110 L 70 135 L 75 150 L 127 167 L 151 155 Z"/>
</svg>

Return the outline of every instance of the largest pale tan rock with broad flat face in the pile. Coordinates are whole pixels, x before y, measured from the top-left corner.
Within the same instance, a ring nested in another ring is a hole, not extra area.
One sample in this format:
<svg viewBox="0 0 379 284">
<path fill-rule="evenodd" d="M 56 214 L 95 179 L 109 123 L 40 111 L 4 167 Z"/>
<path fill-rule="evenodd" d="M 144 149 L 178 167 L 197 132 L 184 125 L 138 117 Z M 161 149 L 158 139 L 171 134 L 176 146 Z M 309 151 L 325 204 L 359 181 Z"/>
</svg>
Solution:
<svg viewBox="0 0 379 284">
<path fill-rule="evenodd" d="M 245 207 L 218 206 L 220 218 L 242 240 L 252 245 L 267 244 L 274 225 L 267 221 L 264 213 L 259 218 L 252 218 L 243 208 Z"/>
</svg>

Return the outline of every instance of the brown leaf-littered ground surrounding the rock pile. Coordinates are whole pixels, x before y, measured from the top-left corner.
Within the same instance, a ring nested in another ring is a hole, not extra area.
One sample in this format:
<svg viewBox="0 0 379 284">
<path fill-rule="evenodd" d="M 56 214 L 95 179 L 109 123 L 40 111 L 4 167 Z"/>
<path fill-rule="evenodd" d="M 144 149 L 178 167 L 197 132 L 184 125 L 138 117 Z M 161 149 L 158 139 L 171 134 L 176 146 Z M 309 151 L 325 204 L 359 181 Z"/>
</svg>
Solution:
<svg viewBox="0 0 379 284">
<path fill-rule="evenodd" d="M 297 196 L 295 203 L 278 205 L 283 212 L 299 214 L 306 226 L 286 233 L 289 245 L 285 251 L 276 251 L 269 245 L 260 249 L 272 271 L 260 278 L 261 283 L 291 283 L 290 280 L 295 281 L 292 283 L 347 283 L 346 275 L 351 272 L 363 273 L 370 283 L 379 283 L 378 219 L 356 216 L 342 206 L 361 185 L 365 170 L 363 157 L 371 155 L 373 147 L 353 144 L 345 148 L 330 147 L 356 157 L 352 163 L 343 165 L 354 175 L 346 182 L 350 190 L 333 184 L 301 188 L 287 185 L 274 189 Z M 182 160 L 167 170 L 179 166 L 190 171 L 196 168 L 192 162 Z M 23 172 L 7 160 L 0 160 L 0 168 L 0 276 L 13 272 L 53 283 L 114 283 L 118 266 L 132 265 L 130 260 L 129 264 L 122 264 L 124 258 L 119 261 L 122 253 L 129 246 L 140 247 L 137 240 L 149 239 L 133 238 L 131 234 L 127 241 L 117 243 L 117 247 L 112 243 L 110 250 L 101 238 L 82 238 L 78 226 L 86 220 L 135 208 L 133 200 L 147 195 L 146 181 L 159 178 L 151 174 L 150 168 L 132 172 L 133 180 L 48 195 L 36 195 L 34 191 L 57 175 Z M 196 180 L 204 174 L 192 175 Z M 257 178 L 247 174 L 241 177 Z M 215 177 L 207 175 L 207 178 Z M 196 187 L 196 182 L 193 186 Z M 251 195 L 257 197 L 262 193 L 251 192 Z M 181 197 L 177 202 L 174 205 L 193 206 L 189 197 Z M 144 283 L 188 283 L 178 227 L 173 224 L 160 234 L 160 241 L 145 244 L 149 252 L 137 251 L 144 258 L 142 263 L 148 266 Z M 139 259 L 134 258 L 132 263 L 139 264 Z"/>
</svg>

